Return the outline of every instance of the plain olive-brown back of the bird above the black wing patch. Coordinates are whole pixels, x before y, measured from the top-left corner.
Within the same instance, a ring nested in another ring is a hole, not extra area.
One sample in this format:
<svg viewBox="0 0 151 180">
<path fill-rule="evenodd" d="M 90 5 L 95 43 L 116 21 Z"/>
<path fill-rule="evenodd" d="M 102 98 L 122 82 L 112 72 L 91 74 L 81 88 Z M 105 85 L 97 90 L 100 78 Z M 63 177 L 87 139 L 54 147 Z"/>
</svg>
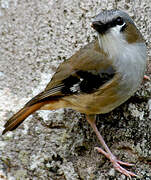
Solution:
<svg viewBox="0 0 151 180">
<path fill-rule="evenodd" d="M 45 90 L 61 84 L 64 79 L 71 75 L 74 76 L 78 70 L 99 71 L 108 68 L 110 65 L 110 62 L 106 60 L 106 54 L 99 47 L 98 40 L 93 41 L 60 64 Z"/>
</svg>

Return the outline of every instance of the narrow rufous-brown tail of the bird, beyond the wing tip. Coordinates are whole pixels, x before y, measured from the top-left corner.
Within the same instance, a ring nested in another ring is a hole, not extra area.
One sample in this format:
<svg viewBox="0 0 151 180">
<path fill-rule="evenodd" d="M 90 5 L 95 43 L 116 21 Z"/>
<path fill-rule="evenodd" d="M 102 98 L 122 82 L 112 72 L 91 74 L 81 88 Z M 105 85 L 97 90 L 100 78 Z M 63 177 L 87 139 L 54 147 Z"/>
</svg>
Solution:
<svg viewBox="0 0 151 180">
<path fill-rule="evenodd" d="M 7 123 L 4 125 L 5 129 L 2 134 L 16 129 L 30 114 L 40 109 L 44 104 L 45 102 L 39 102 L 32 106 L 24 106 L 7 121 Z"/>
</svg>

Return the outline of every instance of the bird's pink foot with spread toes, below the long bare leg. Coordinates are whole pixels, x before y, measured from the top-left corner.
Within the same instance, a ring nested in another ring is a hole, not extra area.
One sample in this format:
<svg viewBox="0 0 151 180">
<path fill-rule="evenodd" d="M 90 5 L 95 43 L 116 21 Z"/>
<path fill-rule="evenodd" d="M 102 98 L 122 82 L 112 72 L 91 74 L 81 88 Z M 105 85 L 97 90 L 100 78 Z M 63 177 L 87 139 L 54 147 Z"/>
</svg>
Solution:
<svg viewBox="0 0 151 180">
<path fill-rule="evenodd" d="M 124 165 L 124 166 L 134 166 L 134 164 L 130 164 L 130 163 L 127 163 L 127 162 L 123 162 L 123 161 L 119 161 L 116 159 L 116 157 L 111 153 L 107 153 L 105 152 L 103 149 L 99 148 L 99 147 L 96 147 L 95 148 L 99 153 L 102 153 L 106 156 L 106 158 L 108 158 L 112 164 L 113 164 L 113 167 L 119 171 L 120 173 L 126 175 L 127 177 L 129 177 L 131 179 L 131 177 L 137 177 L 136 174 L 134 174 L 133 172 L 131 171 L 128 171 L 126 170 L 125 168 L 123 168 L 121 165 Z"/>
</svg>

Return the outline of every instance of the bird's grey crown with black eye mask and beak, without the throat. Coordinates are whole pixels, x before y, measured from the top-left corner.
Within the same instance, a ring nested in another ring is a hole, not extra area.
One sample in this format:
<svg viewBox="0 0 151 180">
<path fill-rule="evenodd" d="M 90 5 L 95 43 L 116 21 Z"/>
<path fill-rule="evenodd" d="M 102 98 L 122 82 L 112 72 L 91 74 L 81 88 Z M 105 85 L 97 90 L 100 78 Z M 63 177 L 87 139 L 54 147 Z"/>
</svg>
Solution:
<svg viewBox="0 0 151 180">
<path fill-rule="evenodd" d="M 106 10 L 99 13 L 92 21 L 92 27 L 100 34 L 105 34 L 112 27 L 120 26 L 124 31 L 127 23 L 133 24 L 130 16 L 121 10 Z M 135 26 L 135 25 L 134 25 Z"/>
</svg>

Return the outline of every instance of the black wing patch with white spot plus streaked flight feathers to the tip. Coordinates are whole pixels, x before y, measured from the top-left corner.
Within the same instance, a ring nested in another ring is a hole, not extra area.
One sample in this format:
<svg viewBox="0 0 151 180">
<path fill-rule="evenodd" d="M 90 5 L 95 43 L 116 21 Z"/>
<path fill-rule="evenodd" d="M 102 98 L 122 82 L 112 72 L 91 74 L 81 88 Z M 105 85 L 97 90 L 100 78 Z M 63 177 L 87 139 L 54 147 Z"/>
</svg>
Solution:
<svg viewBox="0 0 151 180">
<path fill-rule="evenodd" d="M 101 70 L 100 72 L 76 71 L 74 75 L 70 75 L 64 79 L 58 86 L 35 96 L 25 106 L 31 106 L 37 102 L 57 100 L 65 95 L 93 93 L 100 86 L 111 80 L 114 75 L 115 70 L 112 67 Z"/>
</svg>

